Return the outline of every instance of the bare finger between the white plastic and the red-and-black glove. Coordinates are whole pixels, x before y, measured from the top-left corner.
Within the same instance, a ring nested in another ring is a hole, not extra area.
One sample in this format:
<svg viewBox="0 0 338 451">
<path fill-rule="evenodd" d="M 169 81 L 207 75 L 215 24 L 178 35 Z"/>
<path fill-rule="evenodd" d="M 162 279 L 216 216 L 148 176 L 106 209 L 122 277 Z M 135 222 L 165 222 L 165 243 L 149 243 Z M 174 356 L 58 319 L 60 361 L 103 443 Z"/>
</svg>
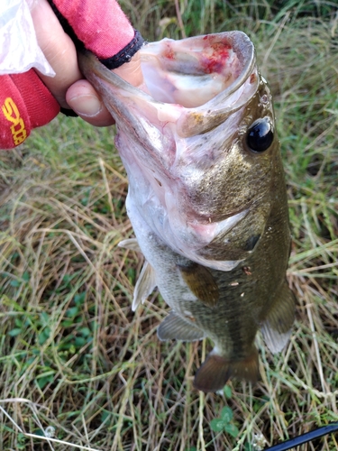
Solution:
<svg viewBox="0 0 338 451">
<path fill-rule="evenodd" d="M 82 78 L 78 69 L 77 51 L 66 34 L 47 0 L 35 0 L 31 11 L 36 36 L 50 66 L 55 70 L 54 78 L 39 74 L 59 105 L 69 107 L 66 102 L 68 88 Z"/>
</svg>

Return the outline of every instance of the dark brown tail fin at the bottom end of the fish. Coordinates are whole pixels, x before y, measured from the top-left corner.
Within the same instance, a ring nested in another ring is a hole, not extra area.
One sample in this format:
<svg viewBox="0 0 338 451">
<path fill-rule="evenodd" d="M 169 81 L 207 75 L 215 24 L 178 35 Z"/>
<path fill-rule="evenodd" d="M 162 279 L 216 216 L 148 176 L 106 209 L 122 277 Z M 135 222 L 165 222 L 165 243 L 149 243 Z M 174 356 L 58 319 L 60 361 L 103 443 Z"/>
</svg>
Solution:
<svg viewBox="0 0 338 451">
<path fill-rule="evenodd" d="M 239 361 L 227 360 L 221 355 L 209 354 L 197 371 L 194 387 L 201 391 L 218 391 L 231 378 L 257 382 L 260 376 L 258 351 L 252 347 L 251 354 Z"/>
</svg>

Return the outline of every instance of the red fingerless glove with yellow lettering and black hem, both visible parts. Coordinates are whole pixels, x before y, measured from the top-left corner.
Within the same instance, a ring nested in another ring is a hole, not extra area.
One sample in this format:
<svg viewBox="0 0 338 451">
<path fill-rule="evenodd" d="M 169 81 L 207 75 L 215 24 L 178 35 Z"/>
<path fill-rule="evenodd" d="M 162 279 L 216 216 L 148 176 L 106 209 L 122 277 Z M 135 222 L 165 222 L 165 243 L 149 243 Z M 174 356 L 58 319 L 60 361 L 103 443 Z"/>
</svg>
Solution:
<svg viewBox="0 0 338 451">
<path fill-rule="evenodd" d="M 109 69 L 129 61 L 142 46 L 140 33 L 132 28 L 115 0 L 49 3 L 76 47 L 93 51 Z M 0 76 L 0 106 L 0 149 L 23 143 L 33 128 L 48 124 L 60 110 L 33 69 Z"/>
</svg>

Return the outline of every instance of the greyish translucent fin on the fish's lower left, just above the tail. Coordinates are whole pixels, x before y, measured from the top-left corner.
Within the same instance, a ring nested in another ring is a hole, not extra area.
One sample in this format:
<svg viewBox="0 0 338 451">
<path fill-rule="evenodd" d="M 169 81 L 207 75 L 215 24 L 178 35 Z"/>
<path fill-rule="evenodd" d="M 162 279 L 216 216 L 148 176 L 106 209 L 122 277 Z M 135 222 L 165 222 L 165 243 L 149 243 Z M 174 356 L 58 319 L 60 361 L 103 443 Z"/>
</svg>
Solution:
<svg viewBox="0 0 338 451">
<path fill-rule="evenodd" d="M 180 318 L 177 313 L 170 312 L 169 316 L 165 318 L 160 327 L 157 329 L 157 335 L 161 341 L 166 340 L 182 340 L 182 341 L 196 341 L 204 338 L 203 330 L 188 323 Z"/>
</svg>

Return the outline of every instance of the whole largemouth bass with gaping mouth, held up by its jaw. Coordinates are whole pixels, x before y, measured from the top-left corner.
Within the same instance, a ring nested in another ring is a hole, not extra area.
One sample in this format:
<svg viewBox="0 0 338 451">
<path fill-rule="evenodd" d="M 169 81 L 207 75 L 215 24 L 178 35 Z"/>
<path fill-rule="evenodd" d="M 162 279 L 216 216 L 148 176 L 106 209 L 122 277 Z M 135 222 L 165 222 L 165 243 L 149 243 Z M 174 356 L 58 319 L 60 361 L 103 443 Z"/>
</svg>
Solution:
<svg viewBox="0 0 338 451">
<path fill-rule="evenodd" d="M 157 287 L 170 312 L 161 341 L 214 348 L 194 387 L 260 378 L 258 331 L 272 353 L 288 343 L 295 297 L 286 272 L 288 198 L 269 86 L 240 31 L 142 47 L 145 88 L 90 53 L 79 67 L 113 115 L 127 171 L 127 214 L 141 252 L 135 310 Z"/>
</svg>

